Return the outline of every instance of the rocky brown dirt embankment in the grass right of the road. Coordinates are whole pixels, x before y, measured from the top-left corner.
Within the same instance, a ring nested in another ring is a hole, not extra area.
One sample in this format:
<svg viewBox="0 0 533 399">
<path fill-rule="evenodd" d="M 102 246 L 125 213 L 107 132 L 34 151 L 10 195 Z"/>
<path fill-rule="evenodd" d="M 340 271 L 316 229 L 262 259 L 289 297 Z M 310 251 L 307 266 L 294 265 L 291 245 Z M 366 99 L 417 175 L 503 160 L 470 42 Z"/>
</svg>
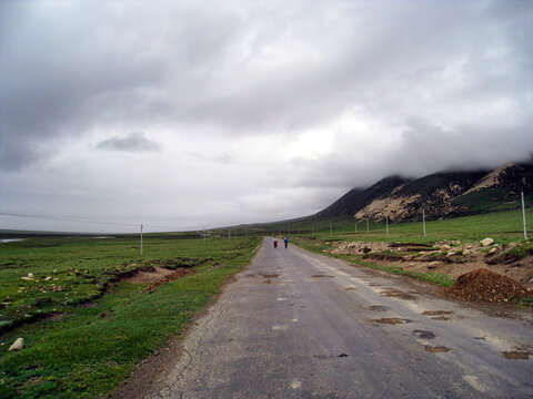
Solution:
<svg viewBox="0 0 533 399">
<path fill-rule="evenodd" d="M 361 255 L 383 266 L 409 272 L 436 272 L 453 278 L 484 268 L 533 288 L 533 256 L 517 256 L 516 244 L 440 242 L 434 246 L 400 243 L 341 243 L 333 254 Z"/>
</svg>

